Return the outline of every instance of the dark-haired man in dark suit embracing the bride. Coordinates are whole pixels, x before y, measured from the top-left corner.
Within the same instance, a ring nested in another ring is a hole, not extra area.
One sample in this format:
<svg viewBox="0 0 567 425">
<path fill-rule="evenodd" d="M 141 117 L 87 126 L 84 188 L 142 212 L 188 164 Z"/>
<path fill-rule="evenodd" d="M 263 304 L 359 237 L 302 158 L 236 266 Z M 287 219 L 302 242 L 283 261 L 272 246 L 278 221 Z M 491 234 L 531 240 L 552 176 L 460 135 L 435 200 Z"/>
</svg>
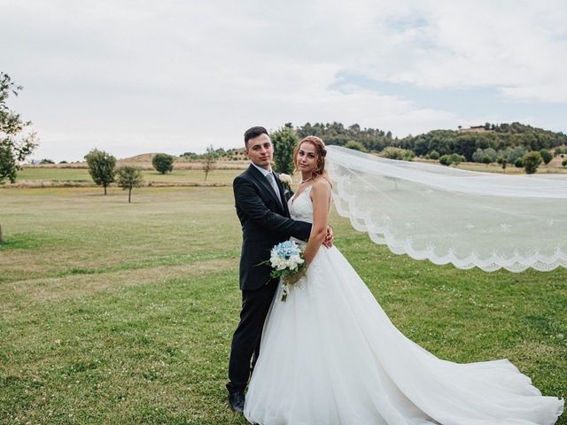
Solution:
<svg viewBox="0 0 567 425">
<path fill-rule="evenodd" d="M 291 195 L 284 192 L 278 175 L 272 172 L 274 147 L 266 128 L 246 130 L 245 155 L 252 164 L 233 182 L 243 236 L 240 256 L 242 310 L 232 337 L 227 383 L 229 406 L 235 412 L 244 411 L 251 362 L 253 368 L 260 352 L 264 321 L 277 289 L 277 280 L 270 277 L 271 268 L 260 263 L 269 259 L 270 250 L 276 243 L 290 236 L 307 240 L 311 232 L 311 224 L 290 218 L 286 195 Z M 324 244 L 330 246 L 332 239 L 329 228 Z"/>
</svg>

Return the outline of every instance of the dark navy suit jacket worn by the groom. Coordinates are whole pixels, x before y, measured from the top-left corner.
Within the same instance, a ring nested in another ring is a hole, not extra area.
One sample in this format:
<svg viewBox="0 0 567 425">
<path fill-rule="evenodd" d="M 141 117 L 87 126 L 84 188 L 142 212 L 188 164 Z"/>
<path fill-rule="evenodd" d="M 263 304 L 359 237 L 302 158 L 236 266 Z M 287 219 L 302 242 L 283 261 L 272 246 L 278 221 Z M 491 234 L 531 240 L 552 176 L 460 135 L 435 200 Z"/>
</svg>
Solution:
<svg viewBox="0 0 567 425">
<path fill-rule="evenodd" d="M 269 259 L 276 243 L 291 236 L 307 240 L 311 224 L 291 220 L 287 198 L 277 174 L 281 203 L 268 179 L 252 164 L 237 176 L 232 184 L 237 215 L 242 225 L 242 252 L 240 255 L 240 289 L 257 290 L 270 281 L 271 267 L 260 265 Z"/>
</svg>

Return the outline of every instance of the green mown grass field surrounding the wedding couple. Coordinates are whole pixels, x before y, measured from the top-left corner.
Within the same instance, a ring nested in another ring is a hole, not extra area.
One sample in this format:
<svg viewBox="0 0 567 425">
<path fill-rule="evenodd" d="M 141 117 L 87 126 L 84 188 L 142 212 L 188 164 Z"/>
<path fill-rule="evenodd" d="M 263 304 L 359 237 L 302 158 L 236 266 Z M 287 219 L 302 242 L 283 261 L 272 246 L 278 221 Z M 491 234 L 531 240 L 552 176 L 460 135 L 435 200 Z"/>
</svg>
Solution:
<svg viewBox="0 0 567 425">
<path fill-rule="evenodd" d="M 231 189 L 132 196 L 0 189 L 0 423 L 246 423 L 224 390 L 240 305 Z M 567 270 L 437 267 L 332 222 L 405 335 L 443 359 L 508 358 L 567 396 Z"/>
</svg>

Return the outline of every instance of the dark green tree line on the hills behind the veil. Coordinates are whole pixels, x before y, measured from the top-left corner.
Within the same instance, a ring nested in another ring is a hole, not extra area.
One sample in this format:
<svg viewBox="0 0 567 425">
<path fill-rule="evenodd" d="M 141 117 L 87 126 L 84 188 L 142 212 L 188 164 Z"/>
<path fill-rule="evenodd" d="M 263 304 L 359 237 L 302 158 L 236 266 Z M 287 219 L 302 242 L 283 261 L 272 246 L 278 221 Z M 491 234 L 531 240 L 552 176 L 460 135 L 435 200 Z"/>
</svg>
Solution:
<svg viewBox="0 0 567 425">
<path fill-rule="evenodd" d="M 298 138 L 316 135 L 327 144 L 377 152 L 385 158 L 412 160 L 417 156 L 439 160 L 445 166 L 458 166 L 464 161 L 485 164 L 497 162 L 504 169 L 508 165 L 524 168 L 527 174 L 535 173 L 541 163 L 548 164 L 555 156 L 564 158 L 567 154 L 567 135 L 519 122 L 485 123 L 484 126 L 471 129 L 432 130 L 401 139 L 392 137 L 390 131 L 361 128 L 358 124 L 345 127 L 339 122 L 307 122 L 296 128 L 286 123 L 278 130 L 283 133 L 290 131 Z M 567 159 L 563 160 L 562 165 L 567 166 Z"/>
</svg>

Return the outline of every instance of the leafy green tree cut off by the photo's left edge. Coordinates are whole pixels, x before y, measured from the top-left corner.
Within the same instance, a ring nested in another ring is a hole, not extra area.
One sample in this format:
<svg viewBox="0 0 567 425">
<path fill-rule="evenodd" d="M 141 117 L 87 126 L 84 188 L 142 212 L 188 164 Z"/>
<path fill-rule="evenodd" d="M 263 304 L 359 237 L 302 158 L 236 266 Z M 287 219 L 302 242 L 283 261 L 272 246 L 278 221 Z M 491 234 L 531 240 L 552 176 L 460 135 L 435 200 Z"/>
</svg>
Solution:
<svg viewBox="0 0 567 425">
<path fill-rule="evenodd" d="M 0 72 L 0 183 L 16 182 L 19 162 L 37 147 L 37 135 L 30 129 L 31 121 L 22 120 L 19 113 L 6 105 L 8 97 L 18 96 L 22 89 L 8 74 Z"/>
</svg>

